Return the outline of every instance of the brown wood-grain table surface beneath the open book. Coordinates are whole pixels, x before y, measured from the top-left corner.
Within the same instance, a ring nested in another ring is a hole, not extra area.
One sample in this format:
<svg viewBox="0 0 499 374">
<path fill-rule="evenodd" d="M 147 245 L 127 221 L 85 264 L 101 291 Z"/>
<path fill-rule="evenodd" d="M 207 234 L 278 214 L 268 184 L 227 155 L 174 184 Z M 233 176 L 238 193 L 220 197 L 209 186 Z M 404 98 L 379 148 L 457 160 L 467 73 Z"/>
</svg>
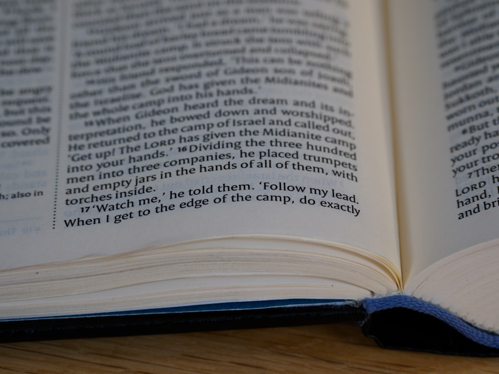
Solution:
<svg viewBox="0 0 499 374">
<path fill-rule="evenodd" d="M 383 350 L 336 323 L 0 344 L 0 373 L 499 373 L 499 358 Z"/>
</svg>

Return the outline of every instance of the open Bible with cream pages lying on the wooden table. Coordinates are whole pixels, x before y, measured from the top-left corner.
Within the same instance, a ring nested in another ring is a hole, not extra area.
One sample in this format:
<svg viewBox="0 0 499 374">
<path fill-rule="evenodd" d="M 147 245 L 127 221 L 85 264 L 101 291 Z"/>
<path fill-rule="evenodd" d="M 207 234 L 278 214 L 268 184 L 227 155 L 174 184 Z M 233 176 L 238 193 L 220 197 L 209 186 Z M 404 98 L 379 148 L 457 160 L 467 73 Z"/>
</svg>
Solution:
<svg viewBox="0 0 499 374">
<path fill-rule="evenodd" d="M 498 10 L 2 2 L 2 339 L 315 306 L 499 348 Z"/>
</svg>

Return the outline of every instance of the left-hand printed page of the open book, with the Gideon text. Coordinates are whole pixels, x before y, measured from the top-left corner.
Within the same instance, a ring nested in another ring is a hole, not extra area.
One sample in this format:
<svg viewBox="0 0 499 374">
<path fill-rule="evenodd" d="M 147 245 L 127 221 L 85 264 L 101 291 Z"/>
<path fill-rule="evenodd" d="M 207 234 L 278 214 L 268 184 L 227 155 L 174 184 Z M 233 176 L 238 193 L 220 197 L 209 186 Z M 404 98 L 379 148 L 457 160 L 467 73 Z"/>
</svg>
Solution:
<svg viewBox="0 0 499 374">
<path fill-rule="evenodd" d="M 31 5 L 1 4 L 3 269 L 272 234 L 399 271 L 377 3 Z"/>
</svg>

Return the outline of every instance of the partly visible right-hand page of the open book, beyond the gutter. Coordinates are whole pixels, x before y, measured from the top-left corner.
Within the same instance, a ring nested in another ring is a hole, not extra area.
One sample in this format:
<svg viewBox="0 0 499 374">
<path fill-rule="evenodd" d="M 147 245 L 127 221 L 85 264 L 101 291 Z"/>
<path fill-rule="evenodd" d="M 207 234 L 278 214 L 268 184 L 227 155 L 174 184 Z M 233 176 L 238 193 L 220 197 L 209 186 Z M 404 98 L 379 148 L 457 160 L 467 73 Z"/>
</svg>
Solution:
<svg viewBox="0 0 499 374">
<path fill-rule="evenodd" d="M 406 281 L 498 237 L 498 16 L 484 1 L 390 3 Z"/>
</svg>

